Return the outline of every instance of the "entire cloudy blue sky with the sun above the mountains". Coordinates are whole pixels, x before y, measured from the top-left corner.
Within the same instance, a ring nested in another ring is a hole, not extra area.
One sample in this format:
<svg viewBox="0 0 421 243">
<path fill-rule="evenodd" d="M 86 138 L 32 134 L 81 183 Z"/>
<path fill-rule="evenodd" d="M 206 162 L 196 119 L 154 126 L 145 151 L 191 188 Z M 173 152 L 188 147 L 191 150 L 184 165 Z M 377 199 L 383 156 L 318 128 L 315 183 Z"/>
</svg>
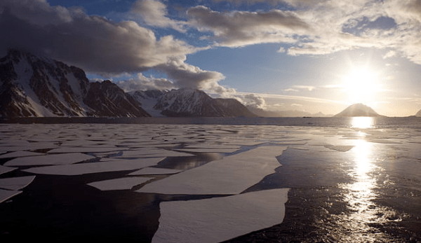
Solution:
<svg viewBox="0 0 421 243">
<path fill-rule="evenodd" d="M 1 0 L 19 48 L 126 91 L 196 88 L 268 111 L 421 109 L 420 0 Z"/>
</svg>

